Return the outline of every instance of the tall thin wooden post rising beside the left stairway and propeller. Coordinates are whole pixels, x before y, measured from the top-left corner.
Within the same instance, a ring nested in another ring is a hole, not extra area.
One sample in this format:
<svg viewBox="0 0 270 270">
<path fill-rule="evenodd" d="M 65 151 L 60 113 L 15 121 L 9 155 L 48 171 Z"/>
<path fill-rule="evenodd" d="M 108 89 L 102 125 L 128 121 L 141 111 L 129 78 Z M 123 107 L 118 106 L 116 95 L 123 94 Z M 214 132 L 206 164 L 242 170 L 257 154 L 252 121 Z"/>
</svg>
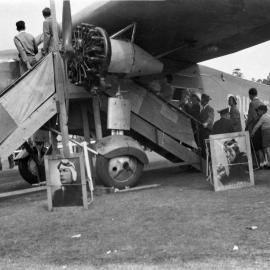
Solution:
<svg viewBox="0 0 270 270">
<path fill-rule="evenodd" d="M 56 22 L 56 13 L 55 13 L 55 1 L 50 0 L 50 7 L 51 7 L 51 16 L 52 16 L 52 30 L 53 30 L 53 47 L 54 47 L 54 73 L 55 73 L 55 88 L 57 94 L 57 102 L 58 102 L 58 113 L 59 113 L 59 122 L 60 122 L 60 129 L 62 135 L 62 145 L 63 145 L 63 153 L 64 157 L 69 157 L 69 136 L 68 136 L 68 126 L 67 126 L 67 110 L 66 110 L 66 100 L 65 100 L 65 88 L 67 87 L 66 84 L 66 77 L 65 77 L 65 69 L 63 60 L 59 53 L 59 37 L 58 37 L 58 30 L 57 30 L 57 22 Z"/>
</svg>

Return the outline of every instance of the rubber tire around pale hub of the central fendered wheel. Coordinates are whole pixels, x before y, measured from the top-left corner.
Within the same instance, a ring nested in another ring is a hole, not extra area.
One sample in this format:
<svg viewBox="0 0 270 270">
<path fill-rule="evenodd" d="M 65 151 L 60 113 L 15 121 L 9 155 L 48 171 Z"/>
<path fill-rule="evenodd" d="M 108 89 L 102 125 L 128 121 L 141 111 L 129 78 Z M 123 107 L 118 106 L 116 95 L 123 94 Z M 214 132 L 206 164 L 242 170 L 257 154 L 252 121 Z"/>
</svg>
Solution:
<svg viewBox="0 0 270 270">
<path fill-rule="evenodd" d="M 134 187 L 137 184 L 138 179 L 142 174 L 143 166 L 144 164 L 137 159 L 137 169 L 135 174 L 131 178 L 129 178 L 128 181 L 117 182 L 114 181 L 114 179 L 111 178 L 109 174 L 109 160 L 102 156 L 97 156 L 96 174 L 98 179 L 104 184 L 104 186 L 124 189 L 125 187 Z"/>
</svg>

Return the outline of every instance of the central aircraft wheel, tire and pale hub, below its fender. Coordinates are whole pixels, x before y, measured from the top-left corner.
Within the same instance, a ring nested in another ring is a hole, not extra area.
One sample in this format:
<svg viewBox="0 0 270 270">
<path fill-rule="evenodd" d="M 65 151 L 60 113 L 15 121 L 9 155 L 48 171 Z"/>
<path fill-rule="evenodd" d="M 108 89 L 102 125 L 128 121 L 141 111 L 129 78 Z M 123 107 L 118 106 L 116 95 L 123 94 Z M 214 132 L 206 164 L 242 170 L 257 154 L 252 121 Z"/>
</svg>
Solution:
<svg viewBox="0 0 270 270">
<path fill-rule="evenodd" d="M 120 156 L 111 159 L 97 157 L 96 172 L 105 186 L 123 189 L 135 186 L 143 170 L 134 156 Z"/>
</svg>

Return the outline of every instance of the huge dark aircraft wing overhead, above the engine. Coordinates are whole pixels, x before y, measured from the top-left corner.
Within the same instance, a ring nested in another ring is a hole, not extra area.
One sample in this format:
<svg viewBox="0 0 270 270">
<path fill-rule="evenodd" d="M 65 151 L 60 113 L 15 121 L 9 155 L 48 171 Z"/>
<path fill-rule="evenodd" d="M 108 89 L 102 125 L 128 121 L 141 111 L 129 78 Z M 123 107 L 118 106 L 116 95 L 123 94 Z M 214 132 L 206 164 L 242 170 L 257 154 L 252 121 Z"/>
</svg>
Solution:
<svg viewBox="0 0 270 270">
<path fill-rule="evenodd" d="M 111 35 L 136 22 L 141 48 L 197 63 L 269 40 L 269 14 L 269 0 L 114 0 L 85 8 L 73 23 L 91 23 Z"/>
</svg>

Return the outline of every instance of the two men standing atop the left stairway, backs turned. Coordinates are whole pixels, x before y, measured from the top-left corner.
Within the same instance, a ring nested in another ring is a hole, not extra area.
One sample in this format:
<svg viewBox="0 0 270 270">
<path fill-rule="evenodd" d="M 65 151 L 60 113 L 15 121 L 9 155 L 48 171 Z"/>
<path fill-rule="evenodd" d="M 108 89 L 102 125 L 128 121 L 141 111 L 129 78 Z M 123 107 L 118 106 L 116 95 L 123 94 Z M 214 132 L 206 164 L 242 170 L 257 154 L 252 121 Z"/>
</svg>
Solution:
<svg viewBox="0 0 270 270">
<path fill-rule="evenodd" d="M 44 8 L 42 10 L 42 15 L 45 20 L 43 22 L 43 48 L 41 52 L 42 55 L 45 56 L 51 52 L 53 48 L 53 31 L 50 8 Z M 14 44 L 19 53 L 20 73 L 22 75 L 37 63 L 39 42 L 35 40 L 33 35 L 25 31 L 26 27 L 24 21 L 16 22 L 16 28 L 19 33 L 14 37 Z"/>
</svg>

